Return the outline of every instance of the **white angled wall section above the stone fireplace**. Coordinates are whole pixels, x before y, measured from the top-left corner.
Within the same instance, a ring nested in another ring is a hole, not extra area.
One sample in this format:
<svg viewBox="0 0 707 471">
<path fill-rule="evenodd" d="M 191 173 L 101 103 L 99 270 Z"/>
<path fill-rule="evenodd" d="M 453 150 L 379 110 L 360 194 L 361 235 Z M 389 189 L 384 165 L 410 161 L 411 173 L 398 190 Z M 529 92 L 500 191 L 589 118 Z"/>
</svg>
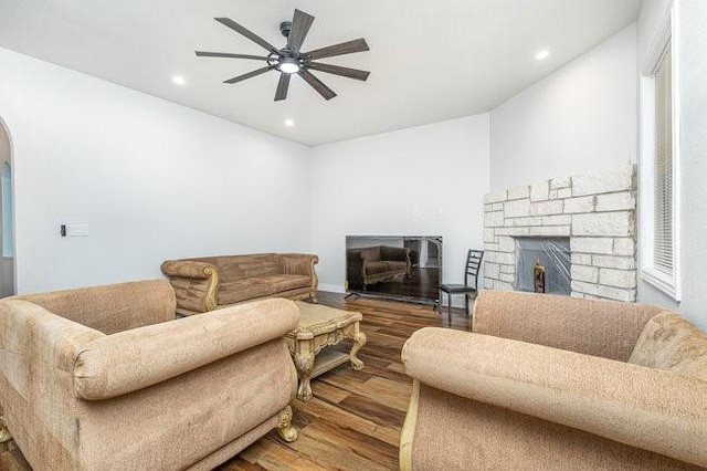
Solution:
<svg viewBox="0 0 707 471">
<path fill-rule="evenodd" d="M 492 111 L 492 190 L 635 161 L 635 51 L 632 24 Z"/>
</svg>

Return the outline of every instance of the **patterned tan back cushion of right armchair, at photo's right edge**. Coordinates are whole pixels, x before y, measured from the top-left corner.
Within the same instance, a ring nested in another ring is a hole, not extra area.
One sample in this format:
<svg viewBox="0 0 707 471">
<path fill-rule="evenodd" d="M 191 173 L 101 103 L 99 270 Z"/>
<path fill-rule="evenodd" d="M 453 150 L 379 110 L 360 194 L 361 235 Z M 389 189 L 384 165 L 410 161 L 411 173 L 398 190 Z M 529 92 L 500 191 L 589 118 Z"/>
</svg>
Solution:
<svg viewBox="0 0 707 471">
<path fill-rule="evenodd" d="M 679 314 L 663 312 L 645 325 L 629 363 L 707 380 L 707 335 Z"/>
</svg>

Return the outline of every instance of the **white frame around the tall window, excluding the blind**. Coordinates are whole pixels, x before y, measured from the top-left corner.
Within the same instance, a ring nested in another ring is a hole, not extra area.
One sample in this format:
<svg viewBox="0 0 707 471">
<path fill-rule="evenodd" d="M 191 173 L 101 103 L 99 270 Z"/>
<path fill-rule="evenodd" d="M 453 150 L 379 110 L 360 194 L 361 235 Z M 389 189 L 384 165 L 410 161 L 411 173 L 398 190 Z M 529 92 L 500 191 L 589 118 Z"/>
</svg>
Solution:
<svg viewBox="0 0 707 471">
<path fill-rule="evenodd" d="M 641 278 L 675 301 L 680 301 L 680 175 L 679 175 L 679 81 L 677 4 L 667 9 L 666 14 L 647 50 L 641 69 Z M 654 264 L 654 211 L 655 211 L 655 70 L 667 48 L 672 60 L 672 125 L 673 125 L 673 273 L 666 274 Z"/>
</svg>

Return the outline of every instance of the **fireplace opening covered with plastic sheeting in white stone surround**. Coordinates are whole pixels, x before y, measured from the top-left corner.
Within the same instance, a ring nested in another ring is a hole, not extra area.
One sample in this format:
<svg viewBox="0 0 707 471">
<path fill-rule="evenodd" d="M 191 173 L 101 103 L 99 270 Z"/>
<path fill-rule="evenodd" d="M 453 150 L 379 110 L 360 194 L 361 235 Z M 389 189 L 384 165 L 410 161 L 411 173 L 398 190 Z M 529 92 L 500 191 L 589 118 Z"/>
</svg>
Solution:
<svg viewBox="0 0 707 471">
<path fill-rule="evenodd" d="M 516 238 L 516 290 L 571 293 L 569 238 Z"/>
</svg>

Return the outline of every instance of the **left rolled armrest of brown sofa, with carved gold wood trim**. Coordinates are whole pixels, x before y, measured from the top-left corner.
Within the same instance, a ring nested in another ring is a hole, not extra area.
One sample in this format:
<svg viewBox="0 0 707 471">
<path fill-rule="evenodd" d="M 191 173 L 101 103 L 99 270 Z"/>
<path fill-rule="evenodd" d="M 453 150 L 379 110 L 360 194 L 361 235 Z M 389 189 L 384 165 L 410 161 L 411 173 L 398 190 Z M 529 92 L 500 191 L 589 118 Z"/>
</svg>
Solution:
<svg viewBox="0 0 707 471">
<path fill-rule="evenodd" d="M 219 272 L 197 260 L 168 260 L 161 265 L 175 290 L 177 307 L 189 312 L 213 311 L 219 305 Z"/>
</svg>

